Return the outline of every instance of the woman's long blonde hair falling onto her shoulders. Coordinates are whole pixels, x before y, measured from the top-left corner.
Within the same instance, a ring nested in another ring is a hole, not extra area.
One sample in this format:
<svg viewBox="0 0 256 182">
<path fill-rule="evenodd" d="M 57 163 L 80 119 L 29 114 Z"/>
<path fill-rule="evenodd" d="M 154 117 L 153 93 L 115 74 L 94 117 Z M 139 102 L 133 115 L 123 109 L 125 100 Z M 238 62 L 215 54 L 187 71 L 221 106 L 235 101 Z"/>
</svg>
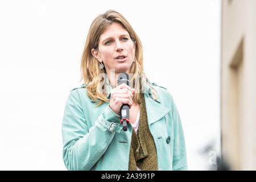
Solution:
<svg viewBox="0 0 256 182">
<path fill-rule="evenodd" d="M 108 93 L 102 92 L 102 89 L 104 89 L 104 85 L 101 84 L 102 80 L 105 82 L 105 77 L 102 77 L 102 73 L 106 73 L 106 70 L 105 68 L 99 68 L 100 62 L 92 55 L 91 50 L 93 48 L 96 50 L 98 49 L 101 34 L 104 32 L 105 28 L 113 22 L 120 23 L 122 27 L 125 28 L 125 30 L 129 33 L 131 40 L 133 40 L 134 44 L 136 45 L 135 63 L 131 65 L 130 69 L 130 73 L 133 73 L 133 76 L 130 78 L 130 82 L 133 84 L 130 85 L 130 87 L 136 90 L 133 100 L 139 103 L 139 93 L 142 93 L 142 85 L 144 83 L 155 91 L 152 92 L 152 94 L 154 95 L 154 100 L 156 100 L 158 98 L 157 91 L 151 86 L 150 83 L 147 82 L 147 77 L 143 73 L 143 50 L 141 40 L 125 17 L 114 10 L 108 10 L 106 13 L 98 15 L 97 18 L 93 20 L 89 28 L 84 51 L 82 52 L 80 80 L 84 80 L 88 96 L 94 102 L 97 102 L 96 106 L 101 105 L 103 102 L 110 102 L 110 100 L 107 98 Z M 139 84 L 135 84 L 136 81 L 139 81 Z"/>
</svg>

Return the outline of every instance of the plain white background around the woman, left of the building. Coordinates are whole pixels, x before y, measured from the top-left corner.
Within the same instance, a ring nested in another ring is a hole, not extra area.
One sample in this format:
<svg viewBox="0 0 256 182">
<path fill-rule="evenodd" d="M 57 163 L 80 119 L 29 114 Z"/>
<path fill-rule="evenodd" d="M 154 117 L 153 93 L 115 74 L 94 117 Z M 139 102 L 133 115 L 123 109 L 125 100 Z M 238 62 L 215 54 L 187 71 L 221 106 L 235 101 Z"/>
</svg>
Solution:
<svg viewBox="0 0 256 182">
<path fill-rule="evenodd" d="M 141 39 L 149 80 L 174 97 L 189 170 L 216 166 L 210 164 L 220 151 L 220 0 L 33 0 L 0 2 L 1 170 L 66 170 L 65 102 L 82 84 L 90 24 L 109 9 Z"/>
</svg>

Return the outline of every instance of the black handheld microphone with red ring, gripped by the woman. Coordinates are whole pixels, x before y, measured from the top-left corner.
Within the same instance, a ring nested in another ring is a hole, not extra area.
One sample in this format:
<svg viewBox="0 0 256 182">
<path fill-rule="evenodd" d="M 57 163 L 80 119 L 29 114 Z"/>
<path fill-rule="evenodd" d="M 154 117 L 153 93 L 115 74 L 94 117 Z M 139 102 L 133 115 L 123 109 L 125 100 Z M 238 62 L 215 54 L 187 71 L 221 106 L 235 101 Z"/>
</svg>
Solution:
<svg viewBox="0 0 256 182">
<path fill-rule="evenodd" d="M 129 76 L 127 73 L 119 73 L 117 85 L 121 85 L 125 83 L 126 85 L 130 86 Z M 120 108 L 121 113 L 121 124 L 123 125 L 123 131 L 127 131 L 127 125 L 130 122 L 130 114 L 129 114 L 129 105 L 123 104 Z"/>
</svg>

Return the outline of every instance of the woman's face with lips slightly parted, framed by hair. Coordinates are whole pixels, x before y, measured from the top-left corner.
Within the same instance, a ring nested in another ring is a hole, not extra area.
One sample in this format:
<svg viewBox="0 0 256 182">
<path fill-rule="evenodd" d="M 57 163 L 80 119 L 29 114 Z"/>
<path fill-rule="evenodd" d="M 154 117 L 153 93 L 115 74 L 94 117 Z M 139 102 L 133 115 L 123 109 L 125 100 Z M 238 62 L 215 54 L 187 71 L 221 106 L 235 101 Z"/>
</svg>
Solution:
<svg viewBox="0 0 256 182">
<path fill-rule="evenodd" d="M 103 61 L 107 73 L 110 73 L 110 69 L 114 69 L 115 73 L 130 73 L 135 46 L 125 28 L 114 22 L 101 34 L 98 50 L 92 49 L 92 54 L 98 61 Z M 118 59 L 118 56 L 125 58 Z"/>
</svg>

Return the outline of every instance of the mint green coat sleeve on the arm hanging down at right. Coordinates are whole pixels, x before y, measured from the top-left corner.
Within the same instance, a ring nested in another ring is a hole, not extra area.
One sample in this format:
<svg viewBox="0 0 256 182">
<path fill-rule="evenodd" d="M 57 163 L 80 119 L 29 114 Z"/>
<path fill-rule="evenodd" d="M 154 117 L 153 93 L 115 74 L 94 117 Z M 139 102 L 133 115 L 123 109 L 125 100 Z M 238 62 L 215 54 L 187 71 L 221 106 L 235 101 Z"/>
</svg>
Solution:
<svg viewBox="0 0 256 182">
<path fill-rule="evenodd" d="M 172 159 L 172 169 L 184 171 L 184 170 L 188 170 L 185 139 L 184 139 L 183 127 L 180 121 L 180 115 L 172 96 L 171 96 L 171 106 L 172 106 L 172 120 L 174 121 L 174 151 L 173 151 L 173 159 Z"/>
</svg>

